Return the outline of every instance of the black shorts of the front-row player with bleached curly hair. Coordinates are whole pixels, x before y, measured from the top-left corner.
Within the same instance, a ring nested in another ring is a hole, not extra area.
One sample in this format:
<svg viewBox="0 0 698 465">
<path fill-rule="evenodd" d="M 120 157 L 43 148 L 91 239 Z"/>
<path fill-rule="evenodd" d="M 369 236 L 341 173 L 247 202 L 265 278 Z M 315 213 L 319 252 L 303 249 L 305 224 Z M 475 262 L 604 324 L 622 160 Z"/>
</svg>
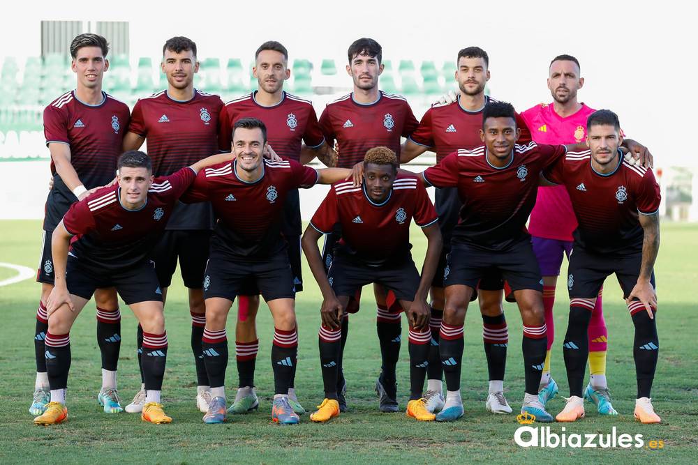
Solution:
<svg viewBox="0 0 698 465">
<path fill-rule="evenodd" d="M 329 285 L 337 296 L 355 296 L 356 291 L 373 282 L 393 291 L 398 300 L 415 300 L 419 288 L 419 272 L 409 255 L 399 264 L 370 266 L 338 255 L 327 273 Z"/>
</svg>

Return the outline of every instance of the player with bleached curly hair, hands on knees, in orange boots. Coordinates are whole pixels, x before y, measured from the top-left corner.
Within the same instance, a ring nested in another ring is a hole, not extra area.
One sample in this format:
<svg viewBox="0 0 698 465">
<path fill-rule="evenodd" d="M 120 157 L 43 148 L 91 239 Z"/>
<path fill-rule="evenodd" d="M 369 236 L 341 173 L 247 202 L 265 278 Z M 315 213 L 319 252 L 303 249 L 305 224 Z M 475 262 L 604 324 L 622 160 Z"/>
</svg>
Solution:
<svg viewBox="0 0 698 465">
<path fill-rule="evenodd" d="M 320 364 L 325 400 L 311 415 L 325 422 L 339 415 L 337 375 L 341 352 L 341 320 L 349 297 L 372 282 L 394 292 L 410 323 L 410 402 L 408 416 L 433 420 L 426 410 L 422 389 L 429 365 L 429 285 L 438 265 L 441 234 L 438 217 L 421 182 L 413 175 L 397 174 L 395 153 L 387 147 L 371 148 L 364 157 L 364 182 L 336 183 L 313 215 L 303 235 L 303 250 L 322 291 Z M 421 280 L 410 249 L 410 223 L 422 227 L 427 240 Z M 334 261 L 325 274 L 318 239 L 340 223 L 342 238 Z"/>
</svg>

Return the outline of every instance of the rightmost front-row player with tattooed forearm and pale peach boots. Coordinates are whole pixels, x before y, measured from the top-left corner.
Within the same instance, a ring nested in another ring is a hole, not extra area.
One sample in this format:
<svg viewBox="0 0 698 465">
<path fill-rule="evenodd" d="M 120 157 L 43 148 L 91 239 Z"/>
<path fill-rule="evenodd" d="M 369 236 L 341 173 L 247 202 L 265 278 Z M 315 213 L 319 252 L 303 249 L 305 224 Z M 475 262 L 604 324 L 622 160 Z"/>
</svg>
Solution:
<svg viewBox="0 0 698 465">
<path fill-rule="evenodd" d="M 661 420 L 650 402 L 650 392 L 659 352 L 653 273 L 660 243 L 659 185 L 651 169 L 623 161 L 618 150 L 623 139 L 621 125 L 614 112 L 594 112 L 586 130 L 591 153 L 567 153 L 544 172 L 545 178 L 567 190 L 579 223 L 567 277 L 570 319 L 563 344 L 570 398 L 556 420 L 584 417 L 581 396 L 588 326 L 604 280 L 616 273 L 635 327 L 634 416 L 643 423 L 658 423 Z"/>
</svg>

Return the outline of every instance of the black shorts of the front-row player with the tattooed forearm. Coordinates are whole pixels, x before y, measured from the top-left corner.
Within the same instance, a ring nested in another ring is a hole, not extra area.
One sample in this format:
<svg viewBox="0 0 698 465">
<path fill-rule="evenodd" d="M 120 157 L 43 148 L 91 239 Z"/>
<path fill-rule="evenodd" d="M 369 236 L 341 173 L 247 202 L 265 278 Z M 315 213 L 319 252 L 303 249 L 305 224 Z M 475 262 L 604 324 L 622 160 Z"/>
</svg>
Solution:
<svg viewBox="0 0 698 465">
<path fill-rule="evenodd" d="M 567 268 L 567 291 L 570 292 L 570 298 L 596 298 L 606 277 L 614 273 L 623 289 L 623 298 L 628 298 L 637 284 L 641 263 L 641 251 L 629 254 L 599 254 L 574 244 Z M 656 288 L 654 273 L 650 282 Z"/>
</svg>

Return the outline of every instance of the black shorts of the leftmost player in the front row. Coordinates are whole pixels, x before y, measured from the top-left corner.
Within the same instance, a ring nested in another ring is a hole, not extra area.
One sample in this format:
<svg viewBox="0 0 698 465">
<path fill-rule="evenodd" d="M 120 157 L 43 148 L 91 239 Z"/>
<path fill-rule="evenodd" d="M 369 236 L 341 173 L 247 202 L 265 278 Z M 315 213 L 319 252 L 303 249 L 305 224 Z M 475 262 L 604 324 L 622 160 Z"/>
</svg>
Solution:
<svg viewBox="0 0 698 465">
<path fill-rule="evenodd" d="M 126 305 L 149 300 L 163 301 L 152 261 L 144 261 L 124 270 L 105 270 L 80 264 L 80 260 L 68 256 L 66 284 L 70 294 L 89 300 L 95 289 L 116 287 Z"/>
</svg>

